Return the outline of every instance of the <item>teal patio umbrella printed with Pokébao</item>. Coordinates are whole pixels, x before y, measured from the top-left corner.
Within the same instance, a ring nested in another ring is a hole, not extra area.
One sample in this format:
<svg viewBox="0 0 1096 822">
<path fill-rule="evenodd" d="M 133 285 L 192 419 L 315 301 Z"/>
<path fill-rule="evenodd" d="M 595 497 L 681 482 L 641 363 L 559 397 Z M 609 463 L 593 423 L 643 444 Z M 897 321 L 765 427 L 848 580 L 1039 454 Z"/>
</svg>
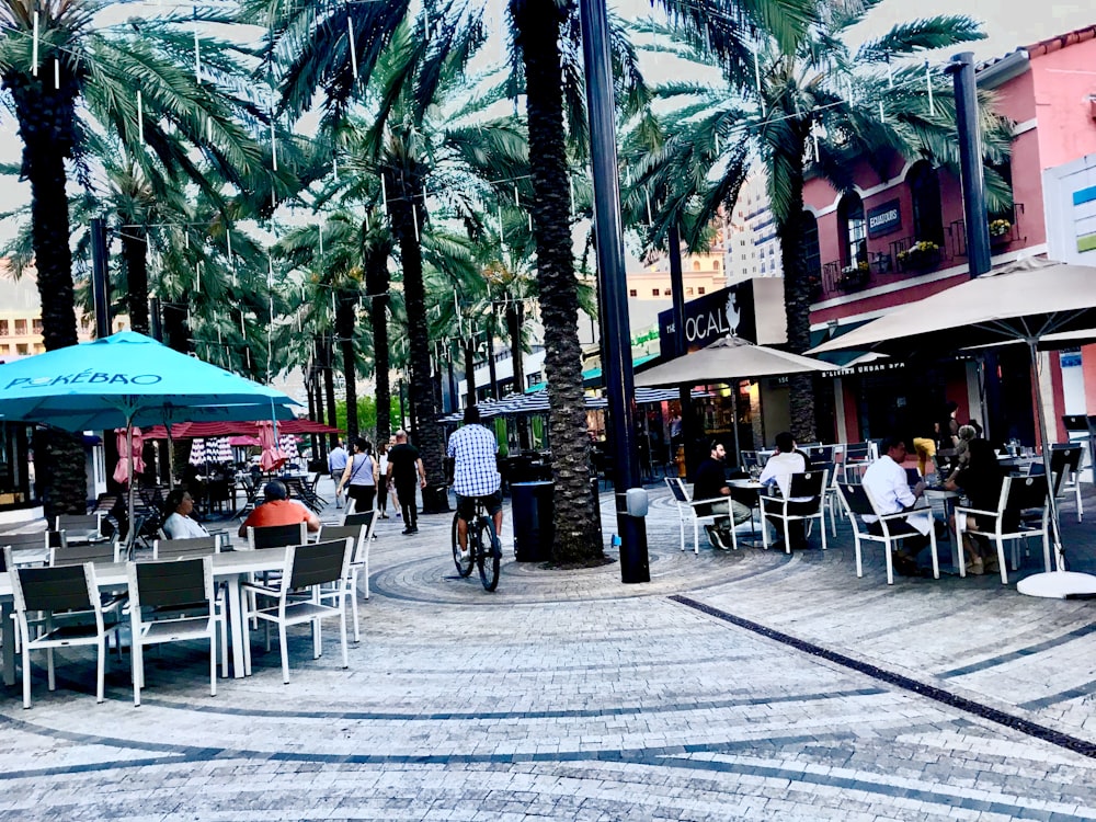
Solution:
<svg viewBox="0 0 1096 822">
<path fill-rule="evenodd" d="M 0 420 L 67 431 L 125 427 L 132 437 L 134 425 L 286 420 L 296 404 L 281 391 L 133 331 L 0 365 Z M 130 541 L 133 514 L 130 481 Z"/>
</svg>

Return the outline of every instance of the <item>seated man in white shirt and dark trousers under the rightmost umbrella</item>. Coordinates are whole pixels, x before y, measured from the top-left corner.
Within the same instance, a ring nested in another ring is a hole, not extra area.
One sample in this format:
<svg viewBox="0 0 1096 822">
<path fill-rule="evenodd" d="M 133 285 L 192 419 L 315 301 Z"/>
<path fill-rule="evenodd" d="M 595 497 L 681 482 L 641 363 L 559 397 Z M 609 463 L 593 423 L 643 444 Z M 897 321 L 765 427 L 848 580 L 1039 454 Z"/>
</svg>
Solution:
<svg viewBox="0 0 1096 822">
<path fill-rule="evenodd" d="M 876 509 L 880 514 L 898 514 L 902 511 L 910 511 L 921 499 L 925 491 L 925 483 L 918 482 L 912 489 L 906 477 L 905 468 L 905 443 L 899 437 L 888 437 L 883 439 L 879 448 L 883 455 L 868 466 L 861 480 L 868 494 L 875 500 Z M 864 522 L 868 525 L 868 530 L 872 534 L 881 535 L 882 525 L 878 517 L 865 516 Z M 888 520 L 888 529 L 891 534 L 909 534 L 902 540 L 902 550 L 894 552 L 894 568 L 899 573 L 916 573 L 917 567 L 914 558 L 917 552 L 929 544 L 928 532 L 933 527 L 932 514 L 927 511 L 912 513 L 903 520 Z M 911 568 L 912 566 L 912 568 Z"/>
</svg>

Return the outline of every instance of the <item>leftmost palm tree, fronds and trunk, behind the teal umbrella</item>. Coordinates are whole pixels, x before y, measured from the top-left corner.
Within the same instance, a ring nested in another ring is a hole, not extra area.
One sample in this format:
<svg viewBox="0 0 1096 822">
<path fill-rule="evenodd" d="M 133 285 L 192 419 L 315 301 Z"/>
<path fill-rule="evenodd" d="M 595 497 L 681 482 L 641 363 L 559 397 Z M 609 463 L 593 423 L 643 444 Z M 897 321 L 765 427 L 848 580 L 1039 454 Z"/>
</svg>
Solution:
<svg viewBox="0 0 1096 822">
<path fill-rule="evenodd" d="M 31 183 L 47 350 L 77 342 L 66 162 L 82 167 L 84 138 L 94 130 L 89 121 L 116 133 L 135 149 L 142 130 L 148 151 L 165 164 L 189 161 L 185 153 L 175 153 L 178 142 L 169 138 L 171 132 L 184 135 L 190 145 L 202 146 L 209 159 L 231 158 L 237 168 L 260 160 L 241 146 L 243 129 L 225 117 L 213 85 L 183 80 L 173 57 L 185 53 L 180 44 L 192 32 L 182 32 L 182 20 L 96 28 L 95 14 L 105 4 L 99 0 L 0 2 L 0 79 L 23 141 L 22 174 Z M 221 20 L 218 14 L 204 19 Z M 163 48 L 152 45 L 164 42 Z M 215 79 L 225 67 L 224 61 L 212 61 L 210 77 Z M 144 128 L 137 123 L 135 88 L 141 90 L 147 112 Z M 201 138 L 207 128 L 216 133 L 216 146 Z M 39 472 L 50 481 L 45 494 L 47 514 L 82 513 L 87 489 L 80 444 L 55 436 L 41 456 L 49 464 L 48 470 Z"/>
</svg>

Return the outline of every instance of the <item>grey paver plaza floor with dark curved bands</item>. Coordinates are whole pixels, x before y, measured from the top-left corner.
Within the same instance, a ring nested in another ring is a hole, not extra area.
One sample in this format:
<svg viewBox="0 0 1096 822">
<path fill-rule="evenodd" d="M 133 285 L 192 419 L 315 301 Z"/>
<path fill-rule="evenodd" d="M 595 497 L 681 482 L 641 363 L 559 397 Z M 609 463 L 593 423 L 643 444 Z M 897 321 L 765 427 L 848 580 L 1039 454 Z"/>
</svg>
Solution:
<svg viewBox="0 0 1096 822">
<path fill-rule="evenodd" d="M 602 516 L 608 541 L 607 493 Z M 1064 523 L 1091 562 L 1093 526 Z M 457 578 L 448 517 L 401 527 L 377 528 L 345 671 L 336 631 L 312 660 L 302 628 L 288 685 L 256 636 L 254 674 L 215 698 L 198 646 L 149 658 L 140 708 L 128 654 L 103 705 L 80 652 L 53 694 L 36 670 L 31 710 L 8 689 L 0 820 L 1096 819 L 1091 601 L 888 586 L 878 550 L 858 580 L 847 525 L 824 555 L 694 556 L 690 529 L 683 553 L 664 489 L 641 585 L 507 550 L 488 594 Z"/>
</svg>

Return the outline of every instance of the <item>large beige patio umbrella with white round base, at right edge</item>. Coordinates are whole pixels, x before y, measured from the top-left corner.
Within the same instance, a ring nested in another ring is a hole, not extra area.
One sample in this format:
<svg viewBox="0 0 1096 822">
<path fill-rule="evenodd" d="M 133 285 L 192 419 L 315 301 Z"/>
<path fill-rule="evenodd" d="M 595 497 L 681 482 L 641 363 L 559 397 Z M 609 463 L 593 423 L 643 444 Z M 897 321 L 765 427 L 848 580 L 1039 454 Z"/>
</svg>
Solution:
<svg viewBox="0 0 1096 822">
<path fill-rule="evenodd" d="M 1091 334 L 1085 333 L 1089 331 Z M 1049 481 L 1050 437 L 1039 385 L 1038 350 L 1055 344 L 1076 345 L 1078 336 L 1096 338 L 1096 269 L 1028 259 L 900 306 L 810 353 L 847 349 L 947 353 L 975 345 L 1025 343 L 1031 357 L 1031 384 Z M 1061 570 L 1064 556 L 1053 494 L 1050 494 L 1050 510 L 1058 570 L 1028 576 L 1016 590 L 1050 597 L 1096 594 L 1096 576 Z"/>
</svg>

